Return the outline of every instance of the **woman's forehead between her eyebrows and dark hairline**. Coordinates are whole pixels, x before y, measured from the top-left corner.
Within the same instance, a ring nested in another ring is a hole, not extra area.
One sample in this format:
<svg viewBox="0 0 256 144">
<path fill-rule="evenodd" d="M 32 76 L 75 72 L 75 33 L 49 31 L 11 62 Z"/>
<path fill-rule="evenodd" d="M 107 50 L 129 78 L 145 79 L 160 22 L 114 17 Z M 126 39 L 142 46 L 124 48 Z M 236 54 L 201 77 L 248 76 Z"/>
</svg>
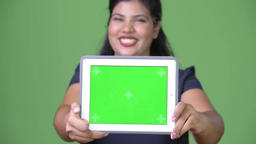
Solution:
<svg viewBox="0 0 256 144">
<path fill-rule="evenodd" d="M 137 0 L 134 1 L 122 1 L 118 3 L 113 9 L 112 14 L 120 13 L 125 16 L 144 14 L 150 16 L 150 12 L 144 5 Z"/>
</svg>

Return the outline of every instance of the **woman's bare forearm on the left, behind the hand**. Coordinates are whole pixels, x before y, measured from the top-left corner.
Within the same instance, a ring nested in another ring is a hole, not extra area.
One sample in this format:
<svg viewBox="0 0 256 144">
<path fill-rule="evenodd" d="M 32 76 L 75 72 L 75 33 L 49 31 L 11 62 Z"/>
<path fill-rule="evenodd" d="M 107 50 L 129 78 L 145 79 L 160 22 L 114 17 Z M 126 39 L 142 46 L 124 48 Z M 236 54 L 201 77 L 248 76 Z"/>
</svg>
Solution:
<svg viewBox="0 0 256 144">
<path fill-rule="evenodd" d="M 70 105 L 62 105 L 59 107 L 54 118 L 54 127 L 64 141 L 72 142 L 68 133 L 66 132 L 66 124 L 69 117 Z"/>
</svg>

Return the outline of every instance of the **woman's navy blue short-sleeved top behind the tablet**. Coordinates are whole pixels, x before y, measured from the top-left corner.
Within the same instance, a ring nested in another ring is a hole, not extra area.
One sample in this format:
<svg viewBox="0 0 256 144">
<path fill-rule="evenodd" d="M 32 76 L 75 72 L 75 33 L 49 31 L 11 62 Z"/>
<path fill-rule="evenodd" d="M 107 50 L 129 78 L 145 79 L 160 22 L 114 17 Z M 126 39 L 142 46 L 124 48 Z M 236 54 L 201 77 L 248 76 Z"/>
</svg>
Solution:
<svg viewBox="0 0 256 144">
<path fill-rule="evenodd" d="M 75 75 L 69 85 L 79 83 L 79 73 L 80 65 L 75 69 Z M 195 76 L 194 66 L 185 70 L 179 69 L 179 101 L 181 101 L 181 94 L 192 88 L 202 89 Z M 170 134 L 108 134 L 108 136 L 95 139 L 88 144 L 188 144 L 188 132 L 174 140 L 171 139 Z"/>
</svg>

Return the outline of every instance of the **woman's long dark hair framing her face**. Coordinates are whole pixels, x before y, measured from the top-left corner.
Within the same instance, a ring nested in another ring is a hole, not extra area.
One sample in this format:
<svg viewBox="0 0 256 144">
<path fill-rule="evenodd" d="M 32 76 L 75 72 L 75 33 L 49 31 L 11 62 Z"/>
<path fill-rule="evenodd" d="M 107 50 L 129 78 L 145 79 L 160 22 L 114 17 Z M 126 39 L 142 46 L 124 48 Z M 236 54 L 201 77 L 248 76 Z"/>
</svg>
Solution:
<svg viewBox="0 0 256 144">
<path fill-rule="evenodd" d="M 111 18 L 111 14 L 115 6 L 122 1 L 132 1 L 132 0 L 109 0 L 109 20 Z M 157 22 L 161 21 L 162 18 L 162 7 L 160 0 L 138 0 L 140 3 L 144 5 L 150 12 L 154 26 L 157 25 Z M 103 43 L 101 52 L 101 56 L 114 56 L 114 51 L 108 40 L 108 32 L 105 37 L 105 41 Z M 150 46 L 150 56 L 174 56 L 174 52 L 171 49 L 170 43 L 168 42 L 162 27 L 159 30 L 158 37 L 153 39 Z"/>
</svg>

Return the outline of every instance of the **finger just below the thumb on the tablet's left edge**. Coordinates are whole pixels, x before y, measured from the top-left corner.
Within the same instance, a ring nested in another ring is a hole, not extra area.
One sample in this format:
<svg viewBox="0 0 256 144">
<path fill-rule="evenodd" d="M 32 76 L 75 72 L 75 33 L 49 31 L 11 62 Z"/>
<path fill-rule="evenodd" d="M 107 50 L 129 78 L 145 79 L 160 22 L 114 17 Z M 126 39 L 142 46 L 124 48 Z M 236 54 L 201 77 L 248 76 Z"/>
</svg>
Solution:
<svg viewBox="0 0 256 144">
<path fill-rule="evenodd" d="M 70 131 L 68 125 L 78 129 L 79 131 L 87 131 L 89 128 L 89 122 L 85 119 L 81 119 L 78 115 L 74 114 L 72 110 L 70 110 L 69 118 L 66 125 L 66 131 Z"/>
</svg>

